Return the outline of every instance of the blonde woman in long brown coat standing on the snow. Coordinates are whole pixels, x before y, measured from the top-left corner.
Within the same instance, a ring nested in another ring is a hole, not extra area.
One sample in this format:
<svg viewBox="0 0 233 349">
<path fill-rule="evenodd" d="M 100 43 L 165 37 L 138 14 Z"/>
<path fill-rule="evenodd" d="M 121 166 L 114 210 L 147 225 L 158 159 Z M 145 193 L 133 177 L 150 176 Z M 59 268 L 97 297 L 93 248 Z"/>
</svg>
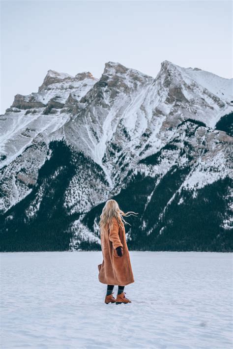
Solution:
<svg viewBox="0 0 233 349">
<path fill-rule="evenodd" d="M 107 284 L 105 303 L 131 303 L 125 297 L 124 287 L 134 282 L 129 251 L 125 238 L 124 213 L 115 200 L 108 200 L 100 215 L 100 233 L 103 262 L 98 265 L 99 281 Z M 113 297 L 114 285 L 118 285 L 117 299 Z"/>
</svg>

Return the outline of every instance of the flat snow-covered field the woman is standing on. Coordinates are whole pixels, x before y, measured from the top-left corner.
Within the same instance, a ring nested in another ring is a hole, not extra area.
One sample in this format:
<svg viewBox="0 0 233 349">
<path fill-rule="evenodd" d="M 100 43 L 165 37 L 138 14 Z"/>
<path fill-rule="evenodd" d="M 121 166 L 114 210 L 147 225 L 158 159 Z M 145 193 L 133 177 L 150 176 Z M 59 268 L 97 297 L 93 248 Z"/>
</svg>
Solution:
<svg viewBox="0 0 233 349">
<path fill-rule="evenodd" d="M 232 254 L 131 252 L 127 305 L 104 304 L 101 252 L 0 260 L 1 349 L 232 348 Z"/>
</svg>

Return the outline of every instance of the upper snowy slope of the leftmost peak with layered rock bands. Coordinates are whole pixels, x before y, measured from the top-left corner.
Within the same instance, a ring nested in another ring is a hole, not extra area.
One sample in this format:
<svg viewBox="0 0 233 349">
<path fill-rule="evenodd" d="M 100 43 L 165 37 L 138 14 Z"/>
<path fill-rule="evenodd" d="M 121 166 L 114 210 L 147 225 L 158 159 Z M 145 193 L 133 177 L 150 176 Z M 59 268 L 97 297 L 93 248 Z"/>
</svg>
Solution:
<svg viewBox="0 0 233 349">
<path fill-rule="evenodd" d="M 70 117 L 60 112 L 66 100 L 79 100 L 95 82 L 90 73 L 72 77 L 49 70 L 38 92 L 17 94 L 11 108 L 0 116 L 0 154 L 6 156 L 0 167 L 13 161 L 38 138 L 48 142 L 50 135 Z"/>
</svg>

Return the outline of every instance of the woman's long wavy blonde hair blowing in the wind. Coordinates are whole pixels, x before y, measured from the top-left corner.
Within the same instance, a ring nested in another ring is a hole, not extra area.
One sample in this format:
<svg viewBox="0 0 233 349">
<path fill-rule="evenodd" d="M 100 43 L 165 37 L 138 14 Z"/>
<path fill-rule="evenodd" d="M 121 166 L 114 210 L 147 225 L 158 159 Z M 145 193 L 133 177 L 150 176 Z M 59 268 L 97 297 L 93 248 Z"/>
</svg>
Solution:
<svg viewBox="0 0 233 349">
<path fill-rule="evenodd" d="M 99 221 L 100 231 L 102 230 L 102 228 L 106 226 L 106 224 L 109 224 L 110 228 L 112 228 L 114 217 L 117 219 L 117 222 L 119 223 L 119 225 L 122 226 L 124 224 L 129 224 L 128 222 L 125 221 L 124 217 L 129 217 L 131 215 L 135 216 L 136 214 L 138 213 L 135 213 L 133 211 L 123 212 L 119 208 L 119 205 L 117 204 L 116 200 L 113 200 L 113 199 L 108 200 L 104 205 L 104 208 L 100 215 L 100 221 Z"/>
</svg>

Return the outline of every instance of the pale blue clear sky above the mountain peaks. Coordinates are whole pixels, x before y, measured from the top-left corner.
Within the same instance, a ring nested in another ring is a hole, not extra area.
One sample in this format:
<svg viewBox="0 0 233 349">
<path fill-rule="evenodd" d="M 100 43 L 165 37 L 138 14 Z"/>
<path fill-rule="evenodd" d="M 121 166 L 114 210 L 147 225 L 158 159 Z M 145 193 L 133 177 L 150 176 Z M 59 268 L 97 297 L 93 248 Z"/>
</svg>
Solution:
<svg viewBox="0 0 233 349">
<path fill-rule="evenodd" d="M 1 1 L 1 109 L 48 69 L 99 78 L 107 61 L 156 76 L 167 59 L 232 77 L 231 1 Z"/>
</svg>

